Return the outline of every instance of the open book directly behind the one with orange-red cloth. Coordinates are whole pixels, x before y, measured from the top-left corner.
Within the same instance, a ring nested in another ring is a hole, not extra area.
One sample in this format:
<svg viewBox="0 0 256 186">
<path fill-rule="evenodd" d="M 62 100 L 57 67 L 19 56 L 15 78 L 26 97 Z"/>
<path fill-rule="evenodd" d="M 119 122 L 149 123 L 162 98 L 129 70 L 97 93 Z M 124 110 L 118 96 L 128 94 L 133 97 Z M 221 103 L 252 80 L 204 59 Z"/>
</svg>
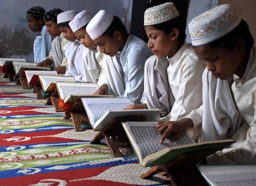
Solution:
<svg viewBox="0 0 256 186">
<path fill-rule="evenodd" d="M 39 75 L 39 80 L 41 82 L 42 88 L 45 92 L 53 92 L 56 87 L 56 82 L 75 82 L 73 76 L 49 76 L 49 75 Z"/>
</svg>

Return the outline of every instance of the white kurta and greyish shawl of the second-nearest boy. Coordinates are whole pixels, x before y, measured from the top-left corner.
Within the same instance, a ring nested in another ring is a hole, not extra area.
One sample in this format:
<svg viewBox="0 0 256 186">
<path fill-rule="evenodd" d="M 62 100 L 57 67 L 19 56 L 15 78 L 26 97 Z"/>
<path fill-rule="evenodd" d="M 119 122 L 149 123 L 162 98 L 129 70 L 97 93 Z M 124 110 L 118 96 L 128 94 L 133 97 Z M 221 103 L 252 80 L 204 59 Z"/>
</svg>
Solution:
<svg viewBox="0 0 256 186">
<path fill-rule="evenodd" d="M 161 116 L 168 113 L 162 120 L 175 121 L 202 104 L 202 74 L 206 65 L 186 42 L 167 61 L 169 63 L 165 59 L 157 60 L 157 57 L 147 61 L 145 97 L 148 108 L 162 109 Z"/>
</svg>

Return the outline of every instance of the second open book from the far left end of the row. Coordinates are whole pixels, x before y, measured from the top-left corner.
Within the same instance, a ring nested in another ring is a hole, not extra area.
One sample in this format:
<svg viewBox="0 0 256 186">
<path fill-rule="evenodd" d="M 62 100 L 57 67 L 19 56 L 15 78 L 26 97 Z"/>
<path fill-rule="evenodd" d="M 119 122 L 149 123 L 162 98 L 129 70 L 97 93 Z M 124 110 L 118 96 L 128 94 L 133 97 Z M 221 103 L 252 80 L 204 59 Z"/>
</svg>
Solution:
<svg viewBox="0 0 256 186">
<path fill-rule="evenodd" d="M 47 70 L 49 71 L 49 67 L 36 66 L 38 63 L 32 62 L 21 62 L 21 61 L 13 61 L 13 68 L 15 70 L 15 75 L 18 76 L 22 70 L 34 69 L 34 70 Z"/>
</svg>

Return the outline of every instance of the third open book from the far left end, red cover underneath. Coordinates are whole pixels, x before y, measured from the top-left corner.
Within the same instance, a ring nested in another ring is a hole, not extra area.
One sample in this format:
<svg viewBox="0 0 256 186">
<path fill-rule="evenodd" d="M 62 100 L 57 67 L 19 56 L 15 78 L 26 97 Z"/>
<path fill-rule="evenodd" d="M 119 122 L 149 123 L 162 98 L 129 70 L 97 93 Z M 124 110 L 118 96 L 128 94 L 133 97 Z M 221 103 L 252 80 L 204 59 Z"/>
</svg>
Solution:
<svg viewBox="0 0 256 186">
<path fill-rule="evenodd" d="M 25 70 L 25 75 L 29 85 L 36 84 L 38 75 L 55 75 L 58 76 L 57 71 L 41 71 L 41 70 Z"/>
</svg>

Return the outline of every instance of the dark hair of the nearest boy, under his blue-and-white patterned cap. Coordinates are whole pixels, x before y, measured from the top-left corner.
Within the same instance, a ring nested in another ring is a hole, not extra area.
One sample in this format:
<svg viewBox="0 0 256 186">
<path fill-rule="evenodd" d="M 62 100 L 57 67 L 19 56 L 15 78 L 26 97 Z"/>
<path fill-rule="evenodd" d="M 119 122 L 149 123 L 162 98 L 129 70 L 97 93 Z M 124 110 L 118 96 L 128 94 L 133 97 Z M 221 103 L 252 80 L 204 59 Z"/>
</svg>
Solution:
<svg viewBox="0 0 256 186">
<path fill-rule="evenodd" d="M 245 51 L 247 54 L 249 54 L 251 47 L 253 47 L 254 40 L 248 24 L 243 19 L 241 19 L 241 23 L 235 29 L 233 29 L 233 31 L 229 32 L 220 39 L 209 43 L 209 45 L 212 47 L 224 47 L 230 51 L 233 51 L 233 48 L 237 44 L 239 38 L 242 38 L 245 42 Z"/>
</svg>

